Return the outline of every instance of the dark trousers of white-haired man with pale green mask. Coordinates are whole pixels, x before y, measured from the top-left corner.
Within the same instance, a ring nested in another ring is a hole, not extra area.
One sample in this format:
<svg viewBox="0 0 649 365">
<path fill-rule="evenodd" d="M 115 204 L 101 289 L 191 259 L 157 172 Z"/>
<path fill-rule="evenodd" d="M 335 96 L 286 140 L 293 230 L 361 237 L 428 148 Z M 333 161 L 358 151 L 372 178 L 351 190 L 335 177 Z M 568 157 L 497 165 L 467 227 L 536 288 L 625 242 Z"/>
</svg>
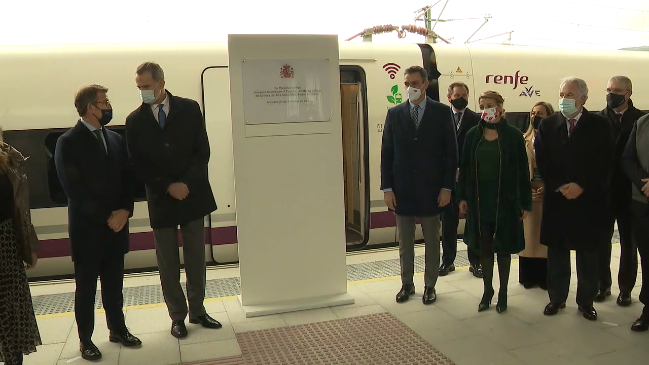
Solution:
<svg viewBox="0 0 649 365">
<path fill-rule="evenodd" d="M 577 305 L 591 306 L 597 295 L 598 251 L 577 251 Z M 550 303 L 561 304 L 570 291 L 570 249 L 548 247 L 548 295 Z"/>
</svg>

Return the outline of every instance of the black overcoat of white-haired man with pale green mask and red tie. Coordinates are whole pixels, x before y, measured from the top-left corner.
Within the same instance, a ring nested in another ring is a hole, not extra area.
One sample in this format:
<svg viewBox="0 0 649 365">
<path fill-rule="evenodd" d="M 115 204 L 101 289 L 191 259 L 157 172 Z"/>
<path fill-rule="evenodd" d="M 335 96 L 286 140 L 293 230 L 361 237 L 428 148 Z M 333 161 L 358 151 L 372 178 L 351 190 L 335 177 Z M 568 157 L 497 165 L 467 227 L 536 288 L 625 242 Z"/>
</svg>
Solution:
<svg viewBox="0 0 649 365">
<path fill-rule="evenodd" d="M 594 250 L 610 239 L 606 222 L 613 133 L 606 118 L 585 108 L 570 138 L 567 123 L 561 113 L 543 118 L 534 143 L 545 182 L 541 244 Z M 567 183 L 581 186 L 582 195 L 569 200 L 556 191 Z"/>
</svg>

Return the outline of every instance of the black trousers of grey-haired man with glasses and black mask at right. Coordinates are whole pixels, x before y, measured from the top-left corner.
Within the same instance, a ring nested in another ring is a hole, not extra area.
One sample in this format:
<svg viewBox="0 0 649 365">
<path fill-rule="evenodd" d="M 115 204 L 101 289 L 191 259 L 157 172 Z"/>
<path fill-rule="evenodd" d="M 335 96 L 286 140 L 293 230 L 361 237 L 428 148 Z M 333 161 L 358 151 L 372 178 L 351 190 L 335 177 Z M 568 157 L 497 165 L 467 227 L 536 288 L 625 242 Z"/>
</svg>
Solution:
<svg viewBox="0 0 649 365">
<path fill-rule="evenodd" d="M 635 279 L 638 275 L 638 250 L 631 238 L 631 221 L 633 214 L 630 210 L 623 210 L 611 217 L 609 227 L 611 240 L 615 231 L 615 220 L 620 234 L 620 271 L 617 275 L 617 283 L 620 292 L 630 293 L 635 286 Z M 599 251 L 599 286 L 602 289 L 610 288 L 613 284 L 611 277 L 611 242 L 607 242 Z"/>
</svg>

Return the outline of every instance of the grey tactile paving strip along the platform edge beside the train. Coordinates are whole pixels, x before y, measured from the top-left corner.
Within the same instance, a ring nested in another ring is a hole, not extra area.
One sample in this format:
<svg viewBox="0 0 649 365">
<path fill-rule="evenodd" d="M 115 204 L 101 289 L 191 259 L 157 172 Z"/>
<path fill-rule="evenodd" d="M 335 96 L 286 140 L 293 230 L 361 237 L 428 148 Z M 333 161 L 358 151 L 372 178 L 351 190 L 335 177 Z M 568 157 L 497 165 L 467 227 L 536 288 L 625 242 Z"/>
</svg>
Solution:
<svg viewBox="0 0 649 365">
<path fill-rule="evenodd" d="M 614 243 L 620 242 L 620 236 L 617 232 L 613 233 Z M 464 243 L 458 241 L 459 247 Z M 517 258 L 517 255 L 512 255 Z M 469 257 L 467 251 L 458 251 L 455 259 L 455 266 L 468 266 Z M 415 272 L 424 271 L 424 256 L 415 257 Z M 362 262 L 360 264 L 347 265 L 347 281 L 371 280 L 381 277 L 393 277 L 400 275 L 400 264 L 398 258 L 391 260 L 381 260 L 374 262 Z M 185 283 L 182 283 L 182 290 L 186 295 Z M 149 305 L 164 303 L 162 296 L 162 287 L 160 285 L 146 285 L 124 288 L 124 307 L 133 307 L 136 305 Z M 238 296 L 241 294 L 241 281 L 238 277 L 226 277 L 223 279 L 208 280 L 205 283 L 206 298 L 220 298 Z M 43 314 L 69 313 L 75 308 L 74 293 L 49 294 L 45 296 L 32 297 L 34 303 L 34 312 L 36 316 Z M 101 292 L 97 290 L 95 296 L 95 309 L 101 309 Z"/>
</svg>

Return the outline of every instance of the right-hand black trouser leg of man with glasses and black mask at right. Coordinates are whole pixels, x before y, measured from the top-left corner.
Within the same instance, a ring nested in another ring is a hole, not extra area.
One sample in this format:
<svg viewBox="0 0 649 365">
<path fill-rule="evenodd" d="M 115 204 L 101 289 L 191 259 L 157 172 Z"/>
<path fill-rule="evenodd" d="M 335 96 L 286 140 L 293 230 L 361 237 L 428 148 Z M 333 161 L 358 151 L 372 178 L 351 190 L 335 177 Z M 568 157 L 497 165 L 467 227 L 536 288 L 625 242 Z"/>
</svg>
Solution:
<svg viewBox="0 0 649 365">
<path fill-rule="evenodd" d="M 638 248 L 631 234 L 633 214 L 630 210 L 617 216 L 617 230 L 620 234 L 620 271 L 617 275 L 620 292 L 631 293 L 638 277 Z"/>
</svg>

